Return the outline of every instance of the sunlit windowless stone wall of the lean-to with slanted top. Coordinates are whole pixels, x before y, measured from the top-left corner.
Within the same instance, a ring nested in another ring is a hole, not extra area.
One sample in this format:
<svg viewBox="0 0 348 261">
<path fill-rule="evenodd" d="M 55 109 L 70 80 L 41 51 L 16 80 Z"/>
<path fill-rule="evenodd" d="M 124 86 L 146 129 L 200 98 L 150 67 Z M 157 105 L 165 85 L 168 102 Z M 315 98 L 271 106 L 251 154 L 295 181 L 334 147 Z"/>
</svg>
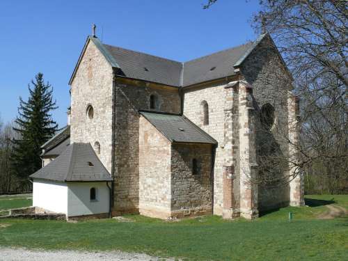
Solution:
<svg viewBox="0 0 348 261">
<path fill-rule="evenodd" d="M 171 143 L 143 116 L 139 130 L 139 212 L 171 216 Z"/>
</svg>

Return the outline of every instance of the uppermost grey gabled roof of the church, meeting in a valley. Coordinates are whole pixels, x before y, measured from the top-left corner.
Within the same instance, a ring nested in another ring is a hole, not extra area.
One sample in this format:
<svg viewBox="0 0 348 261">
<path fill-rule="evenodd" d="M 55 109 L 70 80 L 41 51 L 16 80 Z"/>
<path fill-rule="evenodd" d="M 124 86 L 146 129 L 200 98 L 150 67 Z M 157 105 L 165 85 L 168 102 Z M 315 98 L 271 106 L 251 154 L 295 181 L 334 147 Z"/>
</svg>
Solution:
<svg viewBox="0 0 348 261">
<path fill-rule="evenodd" d="M 75 66 L 69 84 L 72 84 L 88 42 L 92 41 L 112 68 L 117 68 L 120 77 L 140 79 L 175 87 L 186 87 L 205 81 L 221 79 L 235 74 L 235 68 L 242 65 L 246 57 L 269 34 L 260 35 L 255 42 L 239 45 L 185 63 L 105 45 L 98 38 L 88 37 Z"/>
</svg>

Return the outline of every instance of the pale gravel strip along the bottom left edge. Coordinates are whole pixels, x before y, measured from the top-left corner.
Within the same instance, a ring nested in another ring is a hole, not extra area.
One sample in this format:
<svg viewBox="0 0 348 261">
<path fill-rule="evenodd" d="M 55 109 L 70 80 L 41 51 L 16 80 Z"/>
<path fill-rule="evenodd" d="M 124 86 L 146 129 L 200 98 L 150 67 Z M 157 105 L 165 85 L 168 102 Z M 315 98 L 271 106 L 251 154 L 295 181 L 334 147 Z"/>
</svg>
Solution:
<svg viewBox="0 0 348 261">
<path fill-rule="evenodd" d="M 44 250 L 28 250 L 25 248 L 0 248 L 0 260 L 6 261 L 159 261 L 171 260 L 156 258 L 150 255 L 139 253 L 125 253 L 120 251 L 111 252 L 86 252 L 86 251 L 44 251 Z"/>
</svg>

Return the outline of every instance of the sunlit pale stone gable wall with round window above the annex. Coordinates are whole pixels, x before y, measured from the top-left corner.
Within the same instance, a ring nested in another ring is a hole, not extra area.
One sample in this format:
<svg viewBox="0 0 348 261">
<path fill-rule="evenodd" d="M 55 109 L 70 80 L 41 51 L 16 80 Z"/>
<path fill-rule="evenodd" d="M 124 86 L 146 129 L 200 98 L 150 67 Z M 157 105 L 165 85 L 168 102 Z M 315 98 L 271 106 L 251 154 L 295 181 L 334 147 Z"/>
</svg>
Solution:
<svg viewBox="0 0 348 261">
<path fill-rule="evenodd" d="M 111 173 L 112 68 L 89 42 L 71 84 L 71 143 L 100 143 L 100 158 Z M 93 119 L 86 109 L 93 106 Z"/>
</svg>

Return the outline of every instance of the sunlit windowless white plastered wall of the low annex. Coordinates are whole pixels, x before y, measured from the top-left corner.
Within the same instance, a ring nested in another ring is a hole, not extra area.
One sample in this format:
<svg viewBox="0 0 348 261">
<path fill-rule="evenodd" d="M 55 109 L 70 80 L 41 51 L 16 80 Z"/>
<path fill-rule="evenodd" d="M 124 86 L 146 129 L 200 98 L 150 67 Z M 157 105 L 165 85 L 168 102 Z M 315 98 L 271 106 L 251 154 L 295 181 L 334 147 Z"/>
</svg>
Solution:
<svg viewBox="0 0 348 261">
<path fill-rule="evenodd" d="M 33 181 L 33 206 L 68 214 L 68 186 L 50 180 Z"/>
</svg>

